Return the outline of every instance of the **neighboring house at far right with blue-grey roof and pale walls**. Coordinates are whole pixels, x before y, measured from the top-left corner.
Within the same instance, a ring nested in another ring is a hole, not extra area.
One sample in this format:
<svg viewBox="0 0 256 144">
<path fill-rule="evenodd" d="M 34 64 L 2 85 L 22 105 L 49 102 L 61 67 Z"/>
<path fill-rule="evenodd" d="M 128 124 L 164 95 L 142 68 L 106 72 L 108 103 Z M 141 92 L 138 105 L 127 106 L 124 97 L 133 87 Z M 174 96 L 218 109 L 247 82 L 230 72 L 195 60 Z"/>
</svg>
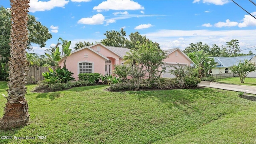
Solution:
<svg viewBox="0 0 256 144">
<path fill-rule="evenodd" d="M 224 74 L 230 73 L 230 67 L 237 65 L 240 61 L 248 60 L 249 62 L 256 62 L 256 55 L 236 56 L 236 57 L 213 57 L 217 62 L 216 67 L 210 71 L 210 74 Z M 248 77 L 256 77 L 256 72 L 251 72 Z"/>
</svg>

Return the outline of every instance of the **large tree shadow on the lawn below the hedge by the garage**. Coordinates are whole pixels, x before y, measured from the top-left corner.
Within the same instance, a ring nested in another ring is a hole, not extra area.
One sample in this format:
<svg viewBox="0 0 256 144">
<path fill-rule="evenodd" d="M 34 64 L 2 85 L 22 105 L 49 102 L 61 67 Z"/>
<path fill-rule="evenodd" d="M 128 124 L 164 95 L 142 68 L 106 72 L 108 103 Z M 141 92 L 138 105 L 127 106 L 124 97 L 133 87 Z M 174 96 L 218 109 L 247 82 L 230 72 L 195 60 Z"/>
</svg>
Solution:
<svg viewBox="0 0 256 144">
<path fill-rule="evenodd" d="M 191 106 L 192 103 L 198 102 L 199 98 L 215 100 L 217 96 L 211 88 L 130 91 L 128 93 L 135 94 L 138 100 L 151 98 L 159 104 L 165 103 L 168 108 L 176 107 L 184 111 L 186 111 L 186 107 L 198 111 L 198 108 Z"/>
</svg>

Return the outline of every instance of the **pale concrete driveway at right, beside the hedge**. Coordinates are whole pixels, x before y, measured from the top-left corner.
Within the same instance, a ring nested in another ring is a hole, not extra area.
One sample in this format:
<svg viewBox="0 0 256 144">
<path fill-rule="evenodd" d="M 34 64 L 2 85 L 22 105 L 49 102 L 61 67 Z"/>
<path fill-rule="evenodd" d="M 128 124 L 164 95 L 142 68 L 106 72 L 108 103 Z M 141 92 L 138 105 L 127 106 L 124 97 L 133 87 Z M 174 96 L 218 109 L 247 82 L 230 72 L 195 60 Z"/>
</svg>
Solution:
<svg viewBox="0 0 256 144">
<path fill-rule="evenodd" d="M 198 86 L 204 86 L 209 88 L 218 88 L 222 90 L 232 90 L 236 92 L 246 92 L 248 94 L 256 94 L 256 86 L 244 86 L 244 85 L 237 85 L 237 84 L 223 84 L 219 82 L 206 82 L 201 81 Z"/>
</svg>

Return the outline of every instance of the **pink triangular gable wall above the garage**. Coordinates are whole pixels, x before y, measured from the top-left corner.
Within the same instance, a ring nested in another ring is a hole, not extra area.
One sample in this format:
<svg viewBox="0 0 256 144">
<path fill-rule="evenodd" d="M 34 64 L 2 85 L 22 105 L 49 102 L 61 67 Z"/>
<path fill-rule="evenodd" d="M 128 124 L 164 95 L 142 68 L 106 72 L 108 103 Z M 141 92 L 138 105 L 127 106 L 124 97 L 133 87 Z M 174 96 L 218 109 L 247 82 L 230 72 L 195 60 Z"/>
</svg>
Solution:
<svg viewBox="0 0 256 144">
<path fill-rule="evenodd" d="M 176 51 L 178 52 L 178 56 L 175 56 L 175 52 L 172 52 L 168 58 L 164 59 L 164 62 L 173 62 L 174 64 L 178 62 L 180 64 L 187 64 L 190 66 L 190 60 L 188 60 L 179 50 Z"/>
</svg>

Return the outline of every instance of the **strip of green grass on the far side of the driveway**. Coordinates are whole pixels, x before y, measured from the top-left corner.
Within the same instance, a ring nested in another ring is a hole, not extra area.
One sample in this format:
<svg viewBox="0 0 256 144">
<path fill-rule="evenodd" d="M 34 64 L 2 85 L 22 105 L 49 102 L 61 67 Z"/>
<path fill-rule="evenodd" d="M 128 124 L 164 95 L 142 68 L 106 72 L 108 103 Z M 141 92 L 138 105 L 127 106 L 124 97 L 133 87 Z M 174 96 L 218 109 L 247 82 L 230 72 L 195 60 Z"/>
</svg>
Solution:
<svg viewBox="0 0 256 144">
<path fill-rule="evenodd" d="M 247 85 L 247 86 L 256 86 L 256 78 L 245 78 L 243 84 L 240 82 L 239 77 L 217 79 L 216 82 L 222 82 L 222 83 L 228 83 L 228 84 L 241 84 L 241 85 Z"/>
</svg>

